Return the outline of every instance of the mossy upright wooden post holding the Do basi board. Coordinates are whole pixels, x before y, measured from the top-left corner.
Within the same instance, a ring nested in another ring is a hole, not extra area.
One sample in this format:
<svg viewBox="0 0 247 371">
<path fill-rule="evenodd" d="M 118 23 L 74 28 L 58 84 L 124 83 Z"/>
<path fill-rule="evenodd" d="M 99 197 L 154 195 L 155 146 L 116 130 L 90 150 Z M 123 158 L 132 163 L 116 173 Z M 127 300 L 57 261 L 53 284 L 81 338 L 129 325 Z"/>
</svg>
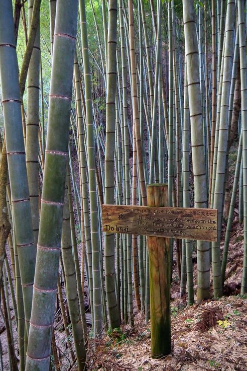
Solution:
<svg viewBox="0 0 247 371">
<path fill-rule="evenodd" d="M 147 187 L 148 206 L 168 206 L 168 185 Z M 169 239 L 148 236 L 151 352 L 159 358 L 171 352 L 170 254 Z"/>
</svg>

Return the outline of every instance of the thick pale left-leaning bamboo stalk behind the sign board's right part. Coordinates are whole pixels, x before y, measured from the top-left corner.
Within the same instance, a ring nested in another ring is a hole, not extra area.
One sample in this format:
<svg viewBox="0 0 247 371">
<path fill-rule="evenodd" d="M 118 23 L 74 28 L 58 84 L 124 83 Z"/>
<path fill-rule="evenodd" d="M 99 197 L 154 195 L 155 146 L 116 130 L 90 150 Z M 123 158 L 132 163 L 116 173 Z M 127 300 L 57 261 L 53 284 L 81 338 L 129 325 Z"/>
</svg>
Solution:
<svg viewBox="0 0 247 371">
<path fill-rule="evenodd" d="M 183 3 L 185 54 L 191 120 L 191 147 L 195 187 L 195 207 L 207 207 L 207 182 L 204 160 L 202 104 L 200 96 L 198 44 L 192 0 Z M 197 301 L 209 297 L 209 244 L 197 241 Z"/>
</svg>

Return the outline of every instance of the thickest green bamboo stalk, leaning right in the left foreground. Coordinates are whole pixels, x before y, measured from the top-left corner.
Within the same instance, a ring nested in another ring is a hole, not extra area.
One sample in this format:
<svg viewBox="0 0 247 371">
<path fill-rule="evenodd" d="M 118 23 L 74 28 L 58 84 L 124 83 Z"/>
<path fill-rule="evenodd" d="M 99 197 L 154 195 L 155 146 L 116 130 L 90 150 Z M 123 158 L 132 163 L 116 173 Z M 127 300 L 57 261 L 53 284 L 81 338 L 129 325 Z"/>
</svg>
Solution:
<svg viewBox="0 0 247 371">
<path fill-rule="evenodd" d="M 51 354 L 61 252 L 77 8 L 76 0 L 61 0 L 56 9 L 37 269 L 26 371 L 47 371 Z M 63 70 L 66 75 L 61 74 Z"/>
</svg>

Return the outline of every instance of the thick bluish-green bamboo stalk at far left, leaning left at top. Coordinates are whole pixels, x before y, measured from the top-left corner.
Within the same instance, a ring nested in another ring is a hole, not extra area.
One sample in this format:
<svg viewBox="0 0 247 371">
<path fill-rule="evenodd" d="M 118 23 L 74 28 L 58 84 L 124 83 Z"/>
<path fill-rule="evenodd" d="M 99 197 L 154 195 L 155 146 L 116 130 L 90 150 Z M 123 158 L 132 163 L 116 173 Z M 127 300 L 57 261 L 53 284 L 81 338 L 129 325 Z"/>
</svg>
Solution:
<svg viewBox="0 0 247 371">
<path fill-rule="evenodd" d="M 25 319 L 28 330 L 33 294 L 36 247 L 33 242 L 32 218 L 25 162 L 12 3 L 2 0 L 0 6 L 0 74 L 3 96 L 2 103 L 13 202 L 12 207 L 15 220 L 15 237 L 18 246 Z M 24 215 L 25 218 L 23 217 Z"/>
</svg>

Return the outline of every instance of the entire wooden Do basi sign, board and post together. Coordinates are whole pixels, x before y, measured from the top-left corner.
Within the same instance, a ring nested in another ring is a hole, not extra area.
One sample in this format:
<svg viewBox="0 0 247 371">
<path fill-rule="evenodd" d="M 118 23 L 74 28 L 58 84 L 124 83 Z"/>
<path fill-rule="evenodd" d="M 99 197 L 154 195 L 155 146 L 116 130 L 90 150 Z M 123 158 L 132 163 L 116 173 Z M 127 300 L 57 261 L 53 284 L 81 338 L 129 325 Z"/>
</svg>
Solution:
<svg viewBox="0 0 247 371">
<path fill-rule="evenodd" d="M 171 352 L 170 238 L 217 241 L 217 210 L 167 207 L 168 185 L 147 186 L 149 206 L 102 205 L 103 232 L 148 236 L 151 353 Z"/>
</svg>

